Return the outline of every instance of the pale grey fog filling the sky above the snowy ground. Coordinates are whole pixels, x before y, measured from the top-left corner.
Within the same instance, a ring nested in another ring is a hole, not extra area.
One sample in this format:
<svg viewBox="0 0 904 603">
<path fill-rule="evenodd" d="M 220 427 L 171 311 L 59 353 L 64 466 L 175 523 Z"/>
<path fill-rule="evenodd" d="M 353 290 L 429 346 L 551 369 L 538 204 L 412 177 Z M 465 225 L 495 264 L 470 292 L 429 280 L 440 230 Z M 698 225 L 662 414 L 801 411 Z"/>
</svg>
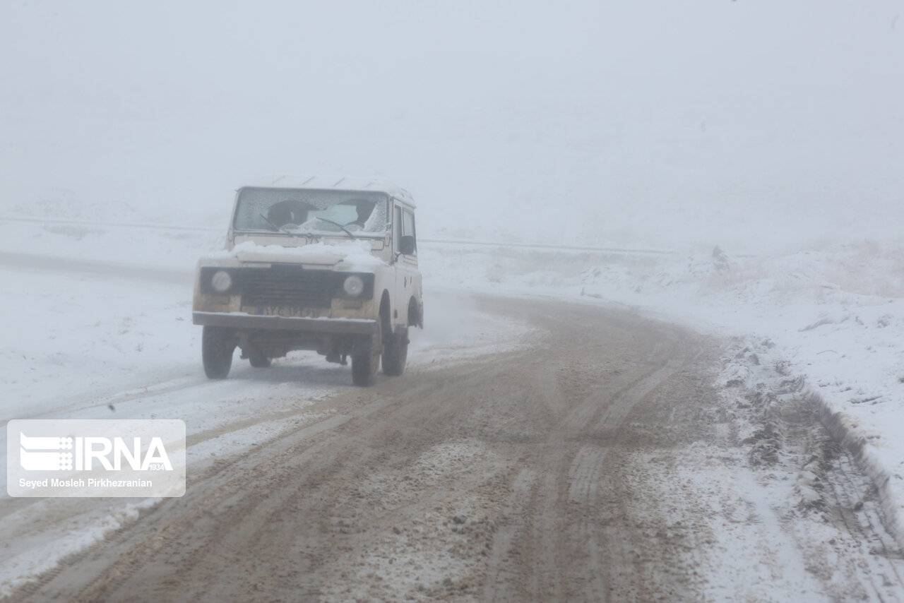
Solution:
<svg viewBox="0 0 904 603">
<path fill-rule="evenodd" d="M 5 2 L 0 216 L 221 226 L 252 178 L 350 174 L 408 188 L 422 236 L 754 252 L 897 238 L 901 14 Z"/>
</svg>

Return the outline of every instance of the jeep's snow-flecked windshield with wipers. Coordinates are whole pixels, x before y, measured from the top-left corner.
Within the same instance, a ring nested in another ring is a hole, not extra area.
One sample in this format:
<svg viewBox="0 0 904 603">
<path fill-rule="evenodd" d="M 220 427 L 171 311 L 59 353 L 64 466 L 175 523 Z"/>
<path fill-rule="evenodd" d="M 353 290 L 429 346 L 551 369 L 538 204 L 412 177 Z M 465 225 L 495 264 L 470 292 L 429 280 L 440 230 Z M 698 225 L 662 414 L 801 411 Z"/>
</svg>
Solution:
<svg viewBox="0 0 904 603">
<path fill-rule="evenodd" d="M 237 231 L 382 235 L 388 201 L 385 193 L 243 188 L 233 227 Z"/>
</svg>

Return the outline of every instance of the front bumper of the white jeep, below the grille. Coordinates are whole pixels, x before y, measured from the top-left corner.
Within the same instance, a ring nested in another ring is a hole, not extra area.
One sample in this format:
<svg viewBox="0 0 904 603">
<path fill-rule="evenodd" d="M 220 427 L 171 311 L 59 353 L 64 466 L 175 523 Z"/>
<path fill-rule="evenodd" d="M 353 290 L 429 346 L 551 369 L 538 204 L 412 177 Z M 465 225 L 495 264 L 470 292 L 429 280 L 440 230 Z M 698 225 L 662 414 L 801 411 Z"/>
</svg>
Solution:
<svg viewBox="0 0 904 603">
<path fill-rule="evenodd" d="M 232 329 L 303 331 L 325 334 L 372 335 L 380 332 L 380 323 L 363 318 L 302 318 L 256 316 L 244 312 L 193 312 L 195 325 L 223 326 Z"/>
</svg>

